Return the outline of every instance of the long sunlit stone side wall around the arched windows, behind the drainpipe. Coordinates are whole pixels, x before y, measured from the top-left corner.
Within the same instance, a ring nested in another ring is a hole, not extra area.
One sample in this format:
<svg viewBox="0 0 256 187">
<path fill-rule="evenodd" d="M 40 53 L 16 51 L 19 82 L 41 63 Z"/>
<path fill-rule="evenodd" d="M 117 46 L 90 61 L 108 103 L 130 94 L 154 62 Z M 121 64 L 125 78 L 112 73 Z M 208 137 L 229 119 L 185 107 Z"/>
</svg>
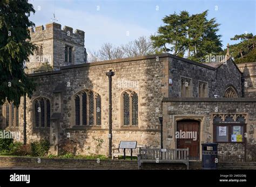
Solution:
<svg viewBox="0 0 256 187">
<path fill-rule="evenodd" d="M 37 90 L 32 98 L 27 98 L 27 138 L 28 142 L 39 139 L 52 138 L 51 128 L 33 127 L 32 102 L 37 97 L 49 98 L 51 104 L 51 116 L 61 113 L 59 119 L 58 140 L 70 140 L 78 148 L 77 153 L 95 153 L 97 141 L 103 139 L 102 149 L 99 154 L 107 155 L 109 141 L 109 83 L 106 72 L 112 69 L 115 75 L 112 77 L 112 126 L 113 148 L 117 148 L 121 140 L 138 141 L 138 145 L 147 147 L 160 146 L 161 100 L 168 95 L 168 57 L 156 56 L 135 57 L 114 61 L 80 64 L 62 67 L 59 71 L 49 73 L 31 74 L 38 83 Z M 68 87 L 67 83 L 70 83 Z M 62 91 L 57 91 L 62 89 Z M 102 99 L 102 125 L 100 127 L 74 126 L 75 111 L 73 108 L 73 96 L 84 89 L 99 93 Z M 138 127 L 121 126 L 121 95 L 127 90 L 138 93 L 139 99 L 139 125 Z M 21 100 L 20 113 L 23 114 L 23 99 Z M 20 120 L 21 129 L 23 119 Z M 51 120 L 51 126 L 53 121 Z M 90 147 L 90 150 L 88 149 Z"/>
</svg>

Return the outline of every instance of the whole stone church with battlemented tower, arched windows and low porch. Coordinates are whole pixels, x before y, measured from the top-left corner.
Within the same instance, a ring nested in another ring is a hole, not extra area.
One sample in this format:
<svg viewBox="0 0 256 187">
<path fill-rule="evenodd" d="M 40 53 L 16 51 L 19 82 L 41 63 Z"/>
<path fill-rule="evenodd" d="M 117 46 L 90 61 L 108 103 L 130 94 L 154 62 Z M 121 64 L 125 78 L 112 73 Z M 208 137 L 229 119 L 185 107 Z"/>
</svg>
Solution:
<svg viewBox="0 0 256 187">
<path fill-rule="evenodd" d="M 171 54 L 87 63 L 84 32 L 57 23 L 30 29 L 37 46 L 26 72 L 37 83 L 32 98 L 1 107 L 1 128 L 28 142 L 48 139 L 51 152 L 70 140 L 76 154 L 109 154 L 120 141 L 160 148 L 189 148 L 201 159 L 201 143 L 219 143 L 219 156 L 245 159 L 256 139 L 256 63 L 198 63 Z M 112 70 L 112 88 L 107 72 Z M 193 137 L 177 136 L 185 132 Z"/>
</svg>

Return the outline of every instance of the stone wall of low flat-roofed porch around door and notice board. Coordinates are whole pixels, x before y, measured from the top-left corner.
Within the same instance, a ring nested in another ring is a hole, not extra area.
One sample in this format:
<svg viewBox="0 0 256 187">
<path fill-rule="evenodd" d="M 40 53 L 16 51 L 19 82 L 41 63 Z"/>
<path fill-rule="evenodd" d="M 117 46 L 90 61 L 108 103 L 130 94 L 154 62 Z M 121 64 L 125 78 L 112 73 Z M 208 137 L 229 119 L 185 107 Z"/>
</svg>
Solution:
<svg viewBox="0 0 256 187">
<path fill-rule="evenodd" d="M 218 112 L 215 112 L 218 107 Z M 256 100 L 246 98 L 164 98 L 163 131 L 164 147 L 176 148 L 177 121 L 200 121 L 200 143 L 213 142 L 213 114 L 245 114 L 247 143 L 256 140 Z M 201 153 L 201 146 L 200 146 Z M 219 154 L 244 156 L 244 146 L 239 143 L 220 143 Z"/>
</svg>

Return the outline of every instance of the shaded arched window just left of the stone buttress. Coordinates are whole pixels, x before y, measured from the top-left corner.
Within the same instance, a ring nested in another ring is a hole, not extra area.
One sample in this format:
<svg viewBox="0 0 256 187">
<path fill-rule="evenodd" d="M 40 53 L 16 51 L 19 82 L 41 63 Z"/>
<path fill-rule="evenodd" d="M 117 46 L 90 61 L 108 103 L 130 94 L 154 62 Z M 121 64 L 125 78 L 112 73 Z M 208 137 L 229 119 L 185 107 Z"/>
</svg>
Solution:
<svg viewBox="0 0 256 187">
<path fill-rule="evenodd" d="M 51 107 L 50 100 L 45 97 L 38 97 L 33 102 L 35 127 L 50 127 Z"/>
</svg>

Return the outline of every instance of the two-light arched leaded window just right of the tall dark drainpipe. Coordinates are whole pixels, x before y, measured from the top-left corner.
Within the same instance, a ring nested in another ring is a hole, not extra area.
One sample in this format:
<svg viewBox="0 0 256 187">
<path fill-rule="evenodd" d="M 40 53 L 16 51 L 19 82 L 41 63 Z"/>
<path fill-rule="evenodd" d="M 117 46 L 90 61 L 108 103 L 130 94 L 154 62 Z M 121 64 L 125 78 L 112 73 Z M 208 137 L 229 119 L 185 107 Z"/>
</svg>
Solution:
<svg viewBox="0 0 256 187">
<path fill-rule="evenodd" d="M 125 91 L 122 95 L 123 126 L 138 126 L 138 94 Z"/>
</svg>

